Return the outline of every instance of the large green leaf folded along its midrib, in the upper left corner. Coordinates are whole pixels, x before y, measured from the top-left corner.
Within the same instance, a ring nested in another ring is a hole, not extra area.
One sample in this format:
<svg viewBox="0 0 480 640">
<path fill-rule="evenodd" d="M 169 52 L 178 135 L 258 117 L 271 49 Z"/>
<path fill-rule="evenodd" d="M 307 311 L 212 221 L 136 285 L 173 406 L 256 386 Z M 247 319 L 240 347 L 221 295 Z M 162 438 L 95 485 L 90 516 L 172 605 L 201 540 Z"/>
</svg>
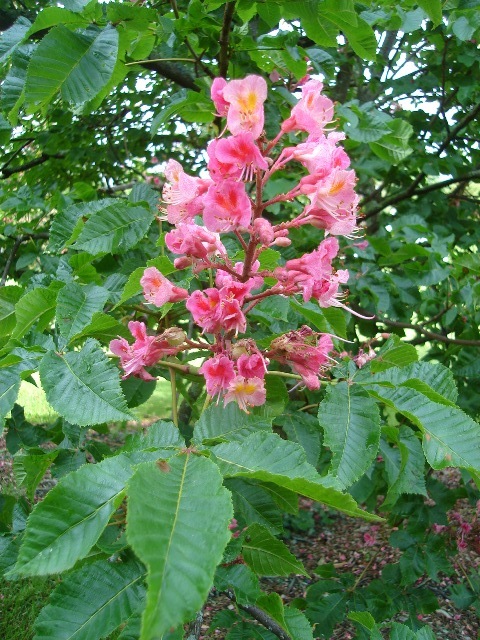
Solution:
<svg viewBox="0 0 480 640">
<path fill-rule="evenodd" d="M 25 101 L 29 113 L 45 110 L 59 91 L 75 106 L 94 98 L 109 81 L 117 54 L 118 33 L 110 25 L 81 34 L 63 25 L 54 27 L 28 65 Z"/>
</svg>

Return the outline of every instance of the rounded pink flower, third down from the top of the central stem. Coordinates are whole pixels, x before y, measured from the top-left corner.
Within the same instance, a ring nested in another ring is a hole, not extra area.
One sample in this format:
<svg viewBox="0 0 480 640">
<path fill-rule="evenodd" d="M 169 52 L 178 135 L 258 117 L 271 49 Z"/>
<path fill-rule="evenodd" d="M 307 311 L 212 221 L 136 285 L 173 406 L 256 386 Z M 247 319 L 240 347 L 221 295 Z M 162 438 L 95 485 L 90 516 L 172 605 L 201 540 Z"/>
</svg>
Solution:
<svg viewBox="0 0 480 640">
<path fill-rule="evenodd" d="M 250 224 L 252 203 L 243 182 L 228 179 L 212 184 L 204 203 L 203 221 L 210 231 L 234 231 Z"/>
</svg>

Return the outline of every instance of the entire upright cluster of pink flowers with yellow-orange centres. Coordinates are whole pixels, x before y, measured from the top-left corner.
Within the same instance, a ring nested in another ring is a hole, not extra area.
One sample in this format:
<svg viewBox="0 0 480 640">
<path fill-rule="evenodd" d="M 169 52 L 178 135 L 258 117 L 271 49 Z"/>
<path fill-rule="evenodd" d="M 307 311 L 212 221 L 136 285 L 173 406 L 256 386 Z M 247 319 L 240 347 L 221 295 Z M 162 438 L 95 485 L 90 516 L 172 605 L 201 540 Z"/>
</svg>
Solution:
<svg viewBox="0 0 480 640">
<path fill-rule="evenodd" d="M 265 375 L 272 360 L 289 366 L 309 389 L 318 389 L 319 376 L 331 361 L 329 335 L 303 326 L 275 338 L 263 351 L 250 338 L 238 339 L 248 330 L 248 312 L 269 296 L 299 295 L 305 302 L 316 300 L 320 307 L 344 306 L 340 288 L 349 274 L 333 266 L 339 252 L 335 236 L 351 235 L 356 229 L 356 178 L 339 146 L 344 136 L 328 130 L 334 110 L 322 93 L 322 83 L 306 78 L 301 84 L 300 99 L 269 141 L 263 131 L 265 80 L 254 75 L 230 82 L 214 80 L 211 97 L 217 115 L 226 118 L 225 131 L 230 135 L 222 134 L 208 145 L 208 178 L 188 175 L 177 161 L 169 160 L 163 188 L 165 217 L 174 227 L 165 235 L 165 243 L 176 256 L 176 269 L 190 267 L 194 274 L 211 269 L 214 286 L 212 282 L 189 293 L 155 267 L 147 268 L 140 281 L 147 303 L 161 307 L 185 301 L 201 333 L 213 339 L 185 338 L 170 344 L 165 334 L 147 336 L 142 323 L 131 322 L 135 342 L 111 343 L 125 376 L 150 379 L 145 367 L 195 348 L 210 352 L 199 369 L 207 393 L 223 397 L 225 404 L 236 401 L 245 411 L 265 402 Z M 282 137 L 288 134 L 291 140 L 295 132 L 300 132 L 299 142 L 278 150 Z M 290 162 L 299 163 L 305 175 L 287 193 L 265 199 L 267 181 Z M 278 224 L 270 221 L 271 205 L 297 198 L 304 204 L 300 214 Z M 262 253 L 269 247 L 289 246 L 290 230 L 307 224 L 325 230 L 318 248 L 273 270 L 262 269 Z M 242 261 L 230 259 L 221 240 L 226 233 L 238 242 Z"/>
</svg>

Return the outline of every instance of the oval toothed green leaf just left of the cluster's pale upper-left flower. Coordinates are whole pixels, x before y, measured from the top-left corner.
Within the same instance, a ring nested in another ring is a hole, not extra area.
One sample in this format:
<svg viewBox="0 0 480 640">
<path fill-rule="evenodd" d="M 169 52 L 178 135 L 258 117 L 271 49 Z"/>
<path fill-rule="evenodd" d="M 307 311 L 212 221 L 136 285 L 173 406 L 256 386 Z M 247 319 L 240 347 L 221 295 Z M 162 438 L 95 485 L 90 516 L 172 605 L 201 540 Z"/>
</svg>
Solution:
<svg viewBox="0 0 480 640">
<path fill-rule="evenodd" d="M 119 200 L 87 220 L 73 248 L 94 256 L 128 251 L 140 242 L 152 221 L 149 209 Z"/>
</svg>

